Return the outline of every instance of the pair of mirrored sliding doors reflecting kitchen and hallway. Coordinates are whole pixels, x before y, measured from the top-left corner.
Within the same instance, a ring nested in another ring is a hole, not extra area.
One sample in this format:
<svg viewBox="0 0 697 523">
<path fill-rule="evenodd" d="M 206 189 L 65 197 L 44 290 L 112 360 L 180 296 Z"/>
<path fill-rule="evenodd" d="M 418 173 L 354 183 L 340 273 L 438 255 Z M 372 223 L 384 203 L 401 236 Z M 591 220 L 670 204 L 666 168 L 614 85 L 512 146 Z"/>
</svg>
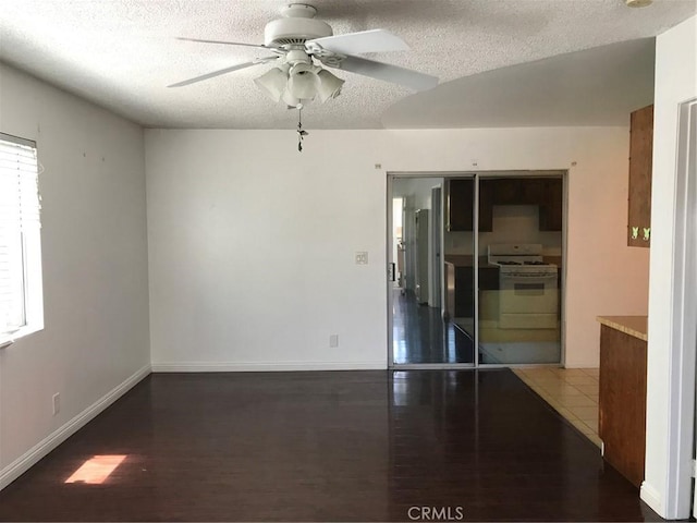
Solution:
<svg viewBox="0 0 697 523">
<path fill-rule="evenodd" d="M 564 180 L 389 174 L 388 216 L 402 223 L 399 240 L 388 228 L 389 262 L 404 269 L 388 289 L 390 366 L 562 363 Z"/>
</svg>

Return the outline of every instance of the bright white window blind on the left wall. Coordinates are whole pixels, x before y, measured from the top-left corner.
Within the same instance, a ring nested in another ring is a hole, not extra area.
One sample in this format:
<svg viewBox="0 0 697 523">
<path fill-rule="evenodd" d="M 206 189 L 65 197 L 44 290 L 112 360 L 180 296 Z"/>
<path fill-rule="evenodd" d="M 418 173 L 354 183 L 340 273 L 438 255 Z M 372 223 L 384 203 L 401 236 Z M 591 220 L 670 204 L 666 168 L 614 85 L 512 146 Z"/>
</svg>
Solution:
<svg viewBox="0 0 697 523">
<path fill-rule="evenodd" d="M 0 335 L 26 325 L 25 239 L 39 210 L 35 144 L 0 133 Z"/>
</svg>

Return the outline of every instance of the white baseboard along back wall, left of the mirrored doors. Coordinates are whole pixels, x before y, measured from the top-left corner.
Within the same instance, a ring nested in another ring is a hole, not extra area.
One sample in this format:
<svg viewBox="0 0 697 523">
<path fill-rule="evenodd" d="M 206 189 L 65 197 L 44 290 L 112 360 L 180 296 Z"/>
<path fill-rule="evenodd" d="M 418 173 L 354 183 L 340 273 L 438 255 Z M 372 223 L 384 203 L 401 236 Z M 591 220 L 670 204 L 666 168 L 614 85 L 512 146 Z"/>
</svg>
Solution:
<svg viewBox="0 0 697 523">
<path fill-rule="evenodd" d="M 291 370 L 386 370 L 387 361 L 356 363 L 227 363 L 227 362 L 160 362 L 152 364 L 154 373 L 249 373 Z"/>
</svg>

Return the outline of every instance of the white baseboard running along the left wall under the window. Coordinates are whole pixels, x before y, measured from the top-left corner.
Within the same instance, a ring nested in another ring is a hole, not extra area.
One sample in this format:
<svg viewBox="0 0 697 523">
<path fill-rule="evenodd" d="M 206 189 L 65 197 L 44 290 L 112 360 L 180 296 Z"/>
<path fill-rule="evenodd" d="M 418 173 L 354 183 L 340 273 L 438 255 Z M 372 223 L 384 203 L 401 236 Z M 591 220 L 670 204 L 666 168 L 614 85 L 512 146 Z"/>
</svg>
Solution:
<svg viewBox="0 0 697 523">
<path fill-rule="evenodd" d="M 34 466 L 41 458 L 61 445 L 73 434 L 94 419 L 105 409 L 131 390 L 138 381 L 150 374 L 150 365 L 146 365 L 122 384 L 114 387 L 103 397 L 73 417 L 70 422 L 51 433 L 44 440 L 35 445 L 23 455 L 0 471 L 0 490 L 14 482 L 17 477 Z"/>
</svg>

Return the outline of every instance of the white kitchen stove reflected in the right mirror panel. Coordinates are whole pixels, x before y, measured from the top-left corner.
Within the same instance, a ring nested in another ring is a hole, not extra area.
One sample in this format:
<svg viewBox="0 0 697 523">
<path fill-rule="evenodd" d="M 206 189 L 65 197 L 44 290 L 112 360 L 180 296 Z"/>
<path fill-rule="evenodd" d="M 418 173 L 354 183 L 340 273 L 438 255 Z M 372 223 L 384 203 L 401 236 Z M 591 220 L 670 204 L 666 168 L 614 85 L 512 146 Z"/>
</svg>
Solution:
<svg viewBox="0 0 697 523">
<path fill-rule="evenodd" d="M 541 244 L 491 244 L 488 262 L 499 266 L 499 328 L 557 328 L 558 268 L 545 263 Z"/>
</svg>

